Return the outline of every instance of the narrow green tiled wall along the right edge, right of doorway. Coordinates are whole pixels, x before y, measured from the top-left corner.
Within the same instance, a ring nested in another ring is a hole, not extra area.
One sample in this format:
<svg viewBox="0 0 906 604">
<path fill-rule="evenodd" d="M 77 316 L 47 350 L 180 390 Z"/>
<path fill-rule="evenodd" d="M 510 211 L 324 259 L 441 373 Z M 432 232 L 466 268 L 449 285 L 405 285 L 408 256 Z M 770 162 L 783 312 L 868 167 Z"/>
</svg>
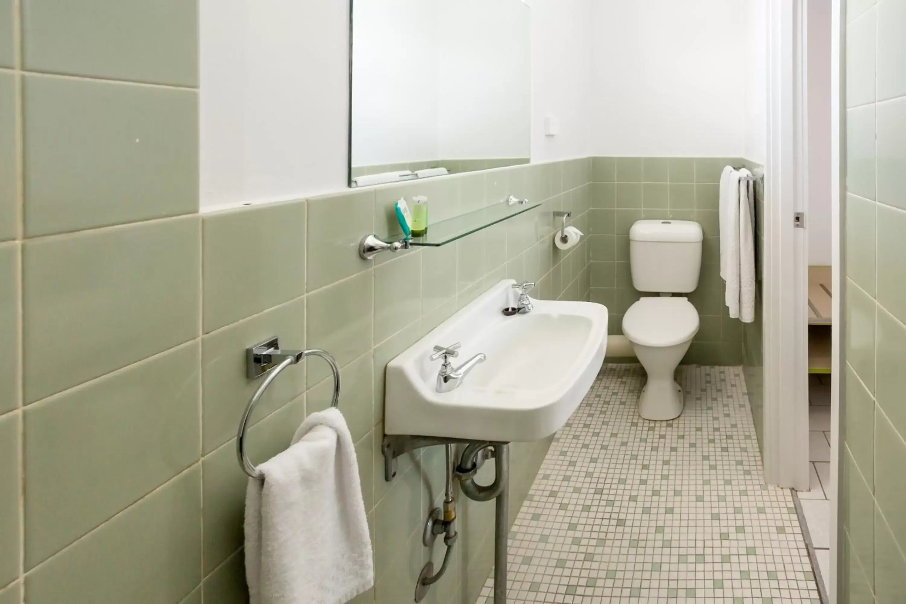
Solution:
<svg viewBox="0 0 906 604">
<path fill-rule="evenodd" d="M 846 14 L 846 196 L 837 577 L 843 604 L 906 593 L 906 0 Z"/>
</svg>

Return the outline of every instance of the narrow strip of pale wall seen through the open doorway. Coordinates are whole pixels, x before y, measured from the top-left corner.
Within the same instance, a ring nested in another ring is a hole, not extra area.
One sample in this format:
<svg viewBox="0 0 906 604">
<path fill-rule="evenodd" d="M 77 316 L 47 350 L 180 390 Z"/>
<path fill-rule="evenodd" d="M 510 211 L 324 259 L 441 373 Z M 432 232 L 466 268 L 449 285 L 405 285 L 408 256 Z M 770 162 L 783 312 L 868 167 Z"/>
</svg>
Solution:
<svg viewBox="0 0 906 604">
<path fill-rule="evenodd" d="M 808 264 L 831 261 L 831 12 L 808 5 Z"/>
</svg>

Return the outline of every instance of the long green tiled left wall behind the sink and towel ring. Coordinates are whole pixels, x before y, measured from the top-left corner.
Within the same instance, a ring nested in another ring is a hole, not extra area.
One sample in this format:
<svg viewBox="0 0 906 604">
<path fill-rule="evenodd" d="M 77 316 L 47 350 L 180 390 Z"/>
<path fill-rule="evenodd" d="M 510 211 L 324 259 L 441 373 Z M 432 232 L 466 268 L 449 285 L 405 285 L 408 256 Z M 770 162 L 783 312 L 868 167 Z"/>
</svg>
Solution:
<svg viewBox="0 0 906 604">
<path fill-rule="evenodd" d="M 88 4 L 0 0 L 0 604 L 246 601 L 236 423 L 259 383 L 245 349 L 272 335 L 342 366 L 377 570 L 355 601 L 410 600 L 443 553 L 420 536 L 443 449 L 384 482 L 384 368 L 501 279 L 588 299 L 589 246 L 555 249 L 552 212 L 587 231 L 591 159 L 200 215 L 196 3 Z M 510 194 L 544 204 L 358 256 L 362 235 L 395 235 L 399 197 L 429 197 L 436 222 Z M 275 382 L 253 459 L 327 406 L 327 378 L 308 362 Z M 514 517 L 548 445 L 513 446 Z M 439 604 L 472 604 L 492 565 L 494 503 L 461 497 L 459 519 Z"/>
</svg>

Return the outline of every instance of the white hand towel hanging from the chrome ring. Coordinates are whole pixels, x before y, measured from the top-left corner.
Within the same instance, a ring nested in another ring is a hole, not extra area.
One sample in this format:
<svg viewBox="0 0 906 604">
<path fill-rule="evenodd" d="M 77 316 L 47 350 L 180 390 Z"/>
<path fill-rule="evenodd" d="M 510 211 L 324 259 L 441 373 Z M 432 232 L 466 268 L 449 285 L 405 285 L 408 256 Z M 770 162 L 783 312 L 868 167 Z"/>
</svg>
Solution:
<svg viewBox="0 0 906 604">
<path fill-rule="evenodd" d="M 313 413 L 246 489 L 252 604 L 341 604 L 374 583 L 352 436 L 337 409 Z"/>
</svg>

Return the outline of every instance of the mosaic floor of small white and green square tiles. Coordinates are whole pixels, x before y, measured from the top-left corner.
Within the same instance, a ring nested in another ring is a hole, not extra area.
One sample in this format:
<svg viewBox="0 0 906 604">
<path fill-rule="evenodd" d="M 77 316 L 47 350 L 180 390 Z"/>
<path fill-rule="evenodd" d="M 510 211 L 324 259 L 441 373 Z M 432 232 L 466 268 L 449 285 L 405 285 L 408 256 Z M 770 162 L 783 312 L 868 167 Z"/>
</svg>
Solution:
<svg viewBox="0 0 906 604">
<path fill-rule="evenodd" d="M 508 602 L 819 604 L 792 495 L 762 484 L 742 369 L 681 368 L 669 422 L 636 413 L 643 382 L 604 366 L 557 434 L 510 533 Z"/>
</svg>

